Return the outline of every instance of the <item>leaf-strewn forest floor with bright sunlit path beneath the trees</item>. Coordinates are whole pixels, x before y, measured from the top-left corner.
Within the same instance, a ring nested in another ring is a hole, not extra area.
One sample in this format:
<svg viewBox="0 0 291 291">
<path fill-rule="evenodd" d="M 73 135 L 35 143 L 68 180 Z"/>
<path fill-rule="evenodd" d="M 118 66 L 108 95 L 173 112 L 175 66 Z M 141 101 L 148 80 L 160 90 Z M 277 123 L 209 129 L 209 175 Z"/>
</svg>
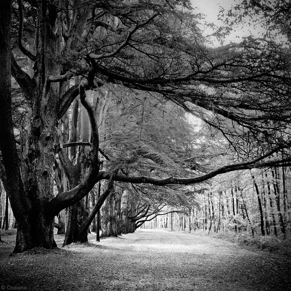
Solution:
<svg viewBox="0 0 291 291">
<path fill-rule="evenodd" d="M 101 242 L 90 234 L 86 244 L 12 257 L 15 236 L 2 240 L 1 290 L 291 291 L 290 254 L 195 233 L 137 230 Z"/>
</svg>

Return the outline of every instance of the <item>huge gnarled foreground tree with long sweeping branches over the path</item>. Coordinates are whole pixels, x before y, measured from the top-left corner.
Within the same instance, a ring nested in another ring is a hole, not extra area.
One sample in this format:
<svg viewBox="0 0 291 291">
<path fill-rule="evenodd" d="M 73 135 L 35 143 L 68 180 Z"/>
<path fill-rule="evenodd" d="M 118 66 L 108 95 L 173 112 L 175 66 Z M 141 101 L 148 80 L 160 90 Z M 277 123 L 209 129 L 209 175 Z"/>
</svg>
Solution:
<svg viewBox="0 0 291 291">
<path fill-rule="evenodd" d="M 18 0 L 13 28 L 18 27 L 17 46 L 33 62 L 30 76 L 11 53 L 10 33 L 15 32 L 11 30 L 12 2 L 5 1 L 3 7 L 0 149 L 18 225 L 14 252 L 35 246 L 55 247 L 54 217 L 80 201 L 102 179 L 187 185 L 234 170 L 291 164 L 286 129 L 290 112 L 285 98 L 289 92 L 289 52 L 274 43 L 246 39 L 239 45 L 208 49 L 187 0 Z M 31 36 L 30 32 L 36 34 Z M 34 49 L 25 46 L 25 33 L 33 38 Z M 30 120 L 23 132 L 26 143 L 20 159 L 11 114 L 10 73 L 26 98 Z M 73 76 L 81 76 L 81 81 L 69 87 Z M 160 178 L 155 171 L 147 176 L 130 175 L 124 172 L 123 164 L 100 170 L 98 118 L 86 91 L 107 83 L 147 91 L 177 103 L 220 131 L 233 148 L 252 144 L 242 151 L 243 157 L 238 157 L 248 162 L 238 159 L 206 174 L 196 172 L 194 177 L 195 172 L 188 168 L 186 178 L 166 174 Z M 58 123 L 78 96 L 91 127 L 88 166 L 71 189 L 54 196 L 56 155 L 63 154 L 68 179 L 78 168 L 66 156 L 58 131 Z M 283 140 L 275 136 L 270 142 L 268 137 L 277 130 L 283 133 Z M 264 142 L 271 147 L 262 154 L 263 146 L 255 148 Z M 283 148 L 284 159 L 273 156 Z"/>
</svg>

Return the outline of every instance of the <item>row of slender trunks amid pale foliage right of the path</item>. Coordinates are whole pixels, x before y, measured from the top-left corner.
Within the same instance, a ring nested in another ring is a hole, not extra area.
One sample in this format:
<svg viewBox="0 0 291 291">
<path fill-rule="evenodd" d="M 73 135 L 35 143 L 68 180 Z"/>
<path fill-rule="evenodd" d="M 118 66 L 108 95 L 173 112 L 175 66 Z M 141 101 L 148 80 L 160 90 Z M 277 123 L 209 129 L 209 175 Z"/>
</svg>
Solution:
<svg viewBox="0 0 291 291">
<path fill-rule="evenodd" d="M 283 173 L 284 175 L 279 175 Z M 278 236 L 278 226 L 283 237 L 286 234 L 288 224 L 288 205 L 291 200 L 283 192 L 287 192 L 283 179 L 286 179 L 286 168 L 266 169 L 252 174 L 253 187 L 242 189 L 238 186 L 239 181 L 231 181 L 230 188 L 217 193 L 205 192 L 200 201 L 199 208 L 189 211 L 187 219 L 191 224 L 189 229 L 203 229 L 213 231 L 234 230 L 236 232 L 250 231 L 252 235 Z M 253 191 L 250 189 L 253 188 Z M 245 191 L 248 189 L 248 191 Z M 282 201 L 284 200 L 284 201 Z M 285 212 L 286 205 L 286 212 Z M 146 223 L 143 227 L 160 228 L 163 225 L 161 219 L 155 218 L 153 222 Z M 176 223 L 178 222 L 178 225 Z M 187 226 L 188 227 L 188 226 Z M 180 215 L 171 214 L 171 229 L 185 229 Z"/>
</svg>

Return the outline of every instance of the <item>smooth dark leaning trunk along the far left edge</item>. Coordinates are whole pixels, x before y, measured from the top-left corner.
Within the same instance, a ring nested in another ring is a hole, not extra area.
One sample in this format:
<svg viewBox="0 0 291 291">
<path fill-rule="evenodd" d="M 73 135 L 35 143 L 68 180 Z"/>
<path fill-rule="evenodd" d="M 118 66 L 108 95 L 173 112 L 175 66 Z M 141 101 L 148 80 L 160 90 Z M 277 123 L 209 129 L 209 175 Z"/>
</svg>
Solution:
<svg viewBox="0 0 291 291">
<path fill-rule="evenodd" d="M 30 224 L 28 212 L 31 205 L 24 195 L 24 188 L 20 175 L 19 161 L 14 139 L 12 110 L 11 110 L 11 13 L 12 1 L 1 1 L 0 9 L 0 149 L 2 153 L 5 178 L 9 187 L 11 207 L 14 210 L 16 220 L 19 222 L 15 252 L 28 248 L 30 233 L 23 228 Z M 13 193 L 13 195 L 11 195 Z M 23 208 L 26 206 L 26 209 Z M 20 243 L 22 238 L 23 243 Z"/>
</svg>

